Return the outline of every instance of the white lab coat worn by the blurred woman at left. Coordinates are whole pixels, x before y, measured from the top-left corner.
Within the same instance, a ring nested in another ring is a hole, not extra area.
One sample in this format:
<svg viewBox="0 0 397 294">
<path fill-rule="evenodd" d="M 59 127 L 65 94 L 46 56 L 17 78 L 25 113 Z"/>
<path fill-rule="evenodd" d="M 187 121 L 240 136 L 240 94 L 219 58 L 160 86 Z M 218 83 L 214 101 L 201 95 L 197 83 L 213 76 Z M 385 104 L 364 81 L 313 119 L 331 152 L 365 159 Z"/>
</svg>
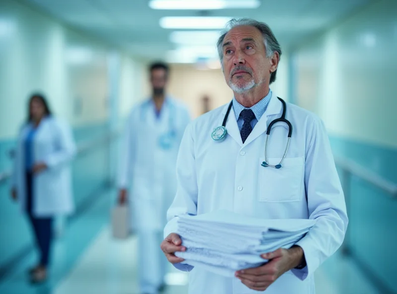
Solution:
<svg viewBox="0 0 397 294">
<path fill-rule="evenodd" d="M 18 193 L 22 211 L 26 211 L 25 139 L 32 126 L 24 125 L 19 133 L 12 186 Z M 34 162 L 48 166 L 33 176 L 33 206 L 35 217 L 68 215 L 74 211 L 71 189 L 70 161 L 76 153 L 73 136 L 66 122 L 54 117 L 44 118 L 37 128 L 34 141 Z"/>
</svg>

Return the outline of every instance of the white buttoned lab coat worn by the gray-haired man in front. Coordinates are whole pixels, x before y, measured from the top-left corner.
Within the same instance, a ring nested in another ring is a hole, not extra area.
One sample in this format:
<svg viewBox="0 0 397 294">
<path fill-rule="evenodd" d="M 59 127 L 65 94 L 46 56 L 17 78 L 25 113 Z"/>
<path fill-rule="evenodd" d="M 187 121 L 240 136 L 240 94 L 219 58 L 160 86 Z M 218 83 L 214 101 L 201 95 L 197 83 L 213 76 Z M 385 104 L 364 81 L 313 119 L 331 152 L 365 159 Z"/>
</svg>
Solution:
<svg viewBox="0 0 397 294">
<path fill-rule="evenodd" d="M 282 275 L 266 294 L 314 294 L 313 272 L 341 245 L 347 227 L 342 188 L 323 122 L 314 114 L 287 103 L 292 138 L 281 169 L 261 166 L 265 160 L 266 129 L 281 116 L 282 104 L 273 92 L 265 114 L 243 144 L 231 110 L 223 142 L 211 139 L 222 124 L 227 106 L 192 122 L 183 137 L 177 162 L 178 191 L 167 217 L 164 236 L 175 232 L 178 216 L 226 209 L 262 219 L 317 219 L 297 244 L 307 261 L 302 270 Z M 287 143 L 287 127 L 273 126 L 268 163 L 277 164 Z M 177 264 L 190 272 L 189 294 L 258 293 L 236 278 Z M 303 280 L 303 281 L 302 281 Z"/>
</svg>

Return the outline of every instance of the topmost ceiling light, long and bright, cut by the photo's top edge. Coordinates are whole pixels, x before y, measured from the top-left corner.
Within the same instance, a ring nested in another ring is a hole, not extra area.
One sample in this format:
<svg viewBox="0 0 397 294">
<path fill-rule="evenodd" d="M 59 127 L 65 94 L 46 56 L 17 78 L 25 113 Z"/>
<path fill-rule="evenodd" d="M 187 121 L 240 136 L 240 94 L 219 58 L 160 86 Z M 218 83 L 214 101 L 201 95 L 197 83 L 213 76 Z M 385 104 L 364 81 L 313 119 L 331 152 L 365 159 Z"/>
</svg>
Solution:
<svg viewBox="0 0 397 294">
<path fill-rule="evenodd" d="M 258 8 L 259 0 L 151 0 L 153 9 L 227 9 L 227 8 Z"/>
</svg>

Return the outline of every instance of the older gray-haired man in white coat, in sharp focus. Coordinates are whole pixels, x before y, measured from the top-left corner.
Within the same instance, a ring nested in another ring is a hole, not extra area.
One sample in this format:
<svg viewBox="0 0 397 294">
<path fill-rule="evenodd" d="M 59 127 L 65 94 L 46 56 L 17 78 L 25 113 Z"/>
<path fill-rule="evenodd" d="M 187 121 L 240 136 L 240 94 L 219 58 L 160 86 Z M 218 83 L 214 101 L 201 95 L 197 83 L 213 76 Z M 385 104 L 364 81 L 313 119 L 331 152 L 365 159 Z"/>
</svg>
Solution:
<svg viewBox="0 0 397 294">
<path fill-rule="evenodd" d="M 175 267 L 191 271 L 189 294 L 314 294 L 313 273 L 341 245 L 347 226 L 324 124 L 304 109 L 283 105 L 269 89 L 281 50 L 265 23 L 233 19 L 217 45 L 234 98 L 186 129 L 177 162 L 178 191 L 161 248 Z M 285 120 L 276 122 L 266 147 L 269 124 L 283 111 L 291 128 Z M 174 255 L 186 250 L 175 233 L 178 216 L 219 209 L 317 223 L 292 248 L 263 255 L 270 260 L 265 265 L 226 278 L 184 265 Z"/>
</svg>

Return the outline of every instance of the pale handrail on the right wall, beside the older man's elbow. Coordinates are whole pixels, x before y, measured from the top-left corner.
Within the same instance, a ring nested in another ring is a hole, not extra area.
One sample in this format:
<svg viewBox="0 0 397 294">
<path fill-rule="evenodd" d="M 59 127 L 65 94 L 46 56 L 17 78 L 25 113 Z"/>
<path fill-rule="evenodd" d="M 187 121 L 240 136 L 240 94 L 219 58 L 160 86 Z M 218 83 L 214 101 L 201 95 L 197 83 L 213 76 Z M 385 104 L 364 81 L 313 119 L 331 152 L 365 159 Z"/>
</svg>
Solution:
<svg viewBox="0 0 397 294">
<path fill-rule="evenodd" d="M 335 164 L 351 175 L 357 176 L 382 189 L 391 198 L 397 198 L 397 184 L 363 167 L 354 160 L 335 157 Z"/>
</svg>

